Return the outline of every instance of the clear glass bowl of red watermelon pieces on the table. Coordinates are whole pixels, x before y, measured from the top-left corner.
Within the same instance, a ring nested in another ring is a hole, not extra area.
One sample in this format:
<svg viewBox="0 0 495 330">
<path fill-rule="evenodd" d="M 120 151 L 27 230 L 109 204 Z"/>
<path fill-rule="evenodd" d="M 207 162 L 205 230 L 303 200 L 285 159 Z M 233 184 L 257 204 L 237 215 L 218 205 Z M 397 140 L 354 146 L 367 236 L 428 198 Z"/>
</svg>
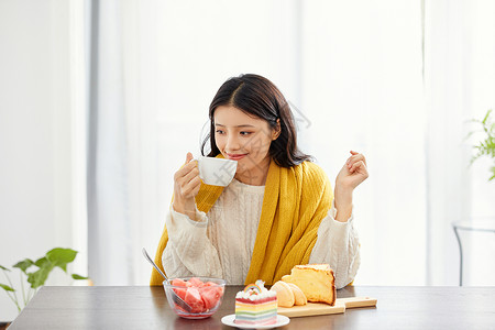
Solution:
<svg viewBox="0 0 495 330">
<path fill-rule="evenodd" d="M 186 319 L 205 319 L 212 316 L 222 305 L 226 280 L 211 277 L 179 277 L 163 282 L 168 305 L 176 315 Z M 175 294 L 186 301 L 191 310 L 180 307 Z"/>
</svg>

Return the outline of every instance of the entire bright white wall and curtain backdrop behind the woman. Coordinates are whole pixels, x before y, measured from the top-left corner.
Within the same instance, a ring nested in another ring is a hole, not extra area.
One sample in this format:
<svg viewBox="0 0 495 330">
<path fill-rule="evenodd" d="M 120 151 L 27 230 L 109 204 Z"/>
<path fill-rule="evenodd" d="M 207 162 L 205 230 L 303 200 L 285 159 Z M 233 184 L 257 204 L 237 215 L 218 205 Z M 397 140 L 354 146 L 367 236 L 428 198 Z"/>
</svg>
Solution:
<svg viewBox="0 0 495 330">
<path fill-rule="evenodd" d="M 494 16 L 491 0 L 0 0 L 0 265 L 64 246 L 95 285 L 147 285 L 175 170 L 220 85 L 254 73 L 332 183 L 350 150 L 367 158 L 355 285 L 459 285 L 452 223 L 495 224 L 494 160 L 470 166 L 484 138 L 468 138 L 495 108 Z M 463 285 L 495 285 L 494 232 L 461 238 Z"/>
</svg>

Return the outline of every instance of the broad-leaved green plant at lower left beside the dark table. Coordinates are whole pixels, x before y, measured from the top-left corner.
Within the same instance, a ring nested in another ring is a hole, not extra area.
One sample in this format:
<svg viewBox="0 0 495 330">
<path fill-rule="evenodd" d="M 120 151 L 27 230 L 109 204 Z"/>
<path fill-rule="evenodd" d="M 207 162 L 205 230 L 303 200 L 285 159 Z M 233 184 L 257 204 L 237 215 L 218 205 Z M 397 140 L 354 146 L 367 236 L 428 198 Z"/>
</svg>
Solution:
<svg viewBox="0 0 495 330">
<path fill-rule="evenodd" d="M 68 274 L 67 264 L 72 263 L 76 258 L 76 255 L 77 251 L 72 249 L 55 248 L 46 252 L 44 256 L 40 257 L 35 262 L 30 258 L 24 258 L 23 261 L 18 262 L 12 267 L 19 270 L 21 276 L 21 292 L 13 288 L 12 280 L 9 276 L 9 273 L 12 271 L 0 265 L 0 270 L 9 283 L 9 285 L 0 283 L 0 287 L 6 292 L 13 304 L 15 304 L 15 307 L 20 312 L 22 308 L 28 305 L 31 298 L 34 297 L 34 294 L 38 290 L 38 288 L 45 284 L 53 270 L 59 267 Z M 88 279 L 88 277 L 77 274 L 70 274 L 70 276 L 74 279 Z M 29 283 L 29 287 L 24 287 L 24 282 Z M 6 326 L 7 324 L 3 324 L 3 327 Z M 2 329 L 1 327 L 2 324 L 0 323 L 0 329 Z"/>
</svg>

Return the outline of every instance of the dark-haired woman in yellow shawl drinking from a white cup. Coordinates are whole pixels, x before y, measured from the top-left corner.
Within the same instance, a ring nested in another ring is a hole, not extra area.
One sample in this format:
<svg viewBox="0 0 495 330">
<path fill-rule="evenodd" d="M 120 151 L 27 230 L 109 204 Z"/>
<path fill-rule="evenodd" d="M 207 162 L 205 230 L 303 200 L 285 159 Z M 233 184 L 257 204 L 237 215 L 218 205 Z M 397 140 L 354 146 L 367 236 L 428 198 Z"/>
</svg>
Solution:
<svg viewBox="0 0 495 330">
<path fill-rule="evenodd" d="M 336 286 L 354 279 L 360 264 L 352 193 L 367 178 L 362 154 L 336 179 L 297 147 L 290 108 L 268 79 L 230 78 L 210 105 L 210 157 L 238 161 L 227 187 L 201 183 L 197 162 L 174 176 L 174 201 L 155 262 L 169 277 L 209 276 L 240 285 L 273 284 L 294 265 L 328 263 Z M 163 265 L 163 266 L 162 266 Z M 151 285 L 162 278 L 153 271 Z"/>
</svg>

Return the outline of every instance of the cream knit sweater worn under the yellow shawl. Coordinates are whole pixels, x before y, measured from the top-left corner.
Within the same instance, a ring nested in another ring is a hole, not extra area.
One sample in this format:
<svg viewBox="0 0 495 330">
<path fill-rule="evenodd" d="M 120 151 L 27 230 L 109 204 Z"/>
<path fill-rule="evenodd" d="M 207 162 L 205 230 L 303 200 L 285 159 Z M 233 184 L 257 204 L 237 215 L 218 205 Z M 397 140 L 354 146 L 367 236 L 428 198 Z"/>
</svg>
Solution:
<svg viewBox="0 0 495 330">
<path fill-rule="evenodd" d="M 223 189 L 208 215 L 196 210 L 196 220 L 176 212 L 166 217 L 168 243 L 163 266 L 169 277 L 208 276 L 242 285 L 250 268 L 257 224 L 263 206 L 264 186 L 250 186 L 233 179 Z M 354 279 L 360 265 L 358 234 L 352 226 L 334 220 L 332 204 L 318 228 L 318 239 L 309 263 L 327 263 L 336 274 L 336 286 Z"/>
</svg>

